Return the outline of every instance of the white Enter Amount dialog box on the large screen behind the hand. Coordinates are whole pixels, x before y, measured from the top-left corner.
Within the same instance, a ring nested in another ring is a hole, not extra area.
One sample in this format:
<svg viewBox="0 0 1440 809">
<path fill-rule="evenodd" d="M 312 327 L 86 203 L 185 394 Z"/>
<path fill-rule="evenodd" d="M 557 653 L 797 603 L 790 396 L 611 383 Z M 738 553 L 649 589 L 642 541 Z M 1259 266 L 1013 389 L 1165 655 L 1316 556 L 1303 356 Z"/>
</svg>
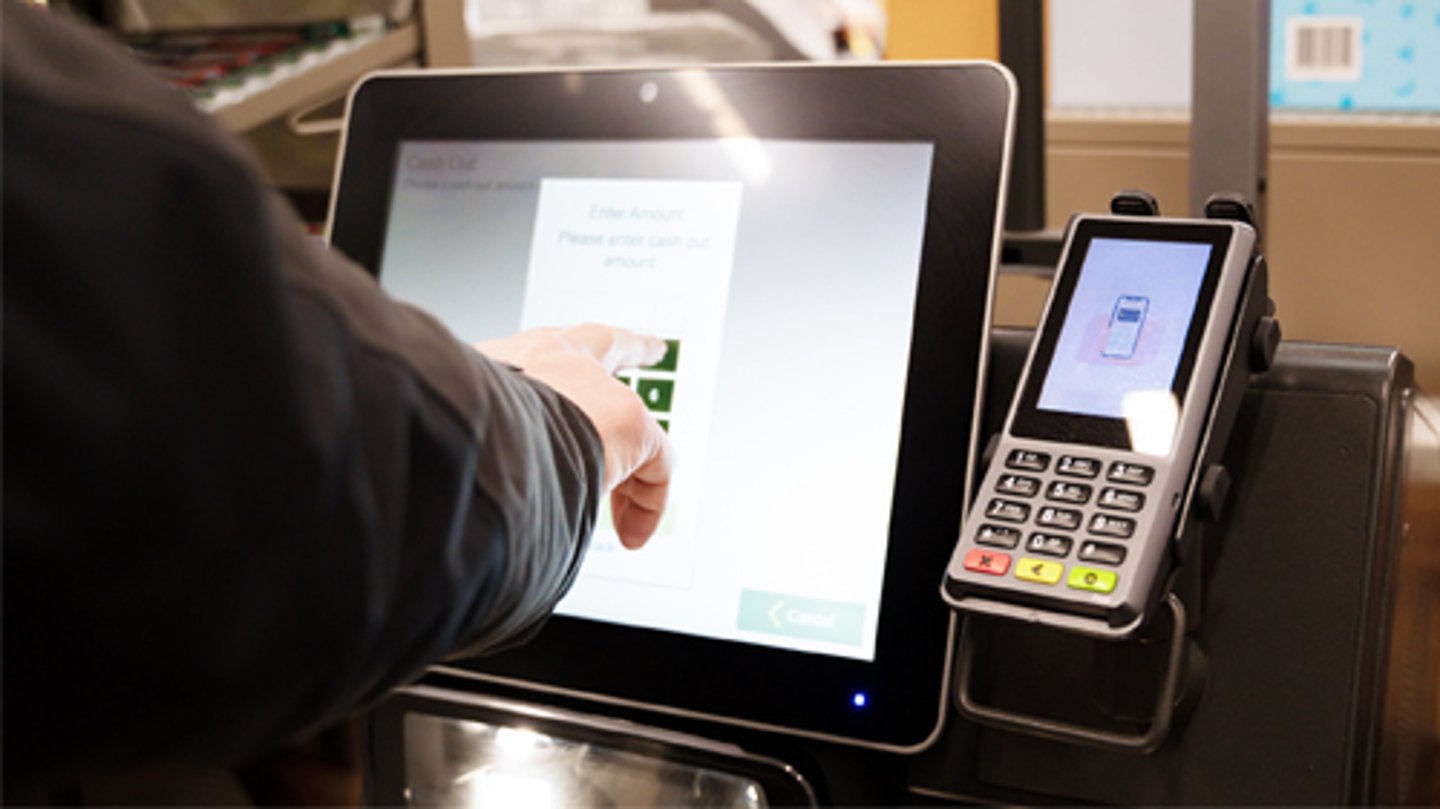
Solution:
<svg viewBox="0 0 1440 809">
<path fill-rule="evenodd" d="M 595 579 L 691 584 L 742 191 L 739 181 L 540 181 L 521 328 L 603 322 L 662 337 L 664 360 L 619 376 L 680 459 L 665 517 L 644 548 L 625 551 L 602 510 L 562 612 L 583 603 Z"/>
</svg>

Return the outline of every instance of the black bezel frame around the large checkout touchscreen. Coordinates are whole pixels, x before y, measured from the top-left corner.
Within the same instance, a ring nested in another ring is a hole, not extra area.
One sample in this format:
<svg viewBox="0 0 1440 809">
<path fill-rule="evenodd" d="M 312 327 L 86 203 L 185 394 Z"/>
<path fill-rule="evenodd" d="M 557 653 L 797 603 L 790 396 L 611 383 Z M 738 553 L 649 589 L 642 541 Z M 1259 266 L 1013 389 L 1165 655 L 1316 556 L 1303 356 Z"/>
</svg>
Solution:
<svg viewBox="0 0 1440 809">
<path fill-rule="evenodd" d="M 330 239 L 379 272 L 403 141 L 724 137 L 700 73 L 757 140 L 932 143 L 914 330 L 873 661 L 554 616 L 527 645 L 446 671 L 600 702 L 890 750 L 937 737 L 953 620 L 935 596 L 975 462 L 1014 79 L 988 62 L 395 72 L 351 94 Z M 641 92 L 644 85 L 654 89 Z M 649 96 L 649 101 L 644 101 Z M 704 99 L 700 99 L 704 101 Z M 857 380 L 864 374 L 857 373 Z M 837 436 L 842 440 L 844 436 Z M 867 705 L 854 704 L 857 692 Z"/>
</svg>

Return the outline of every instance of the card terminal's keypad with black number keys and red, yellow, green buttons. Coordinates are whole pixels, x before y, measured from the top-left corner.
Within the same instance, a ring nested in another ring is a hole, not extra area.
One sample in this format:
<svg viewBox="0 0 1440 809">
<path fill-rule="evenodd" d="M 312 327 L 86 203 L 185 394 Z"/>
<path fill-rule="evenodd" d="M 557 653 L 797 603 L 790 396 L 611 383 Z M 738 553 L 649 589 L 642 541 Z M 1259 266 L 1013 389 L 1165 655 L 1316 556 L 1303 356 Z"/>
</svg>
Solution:
<svg viewBox="0 0 1440 809">
<path fill-rule="evenodd" d="M 1024 557 L 1012 567 L 1008 554 L 975 548 L 965 567 L 1045 586 L 1112 592 L 1119 580 L 1113 569 L 1125 561 L 1125 541 L 1135 535 L 1133 515 L 1145 508 L 1143 489 L 1155 469 L 1126 461 L 1106 465 L 1086 455 L 1051 458 L 1035 449 L 1011 449 L 1004 466 L 992 489 L 984 492 L 986 521 L 976 530 L 975 544 L 1020 550 Z"/>
</svg>

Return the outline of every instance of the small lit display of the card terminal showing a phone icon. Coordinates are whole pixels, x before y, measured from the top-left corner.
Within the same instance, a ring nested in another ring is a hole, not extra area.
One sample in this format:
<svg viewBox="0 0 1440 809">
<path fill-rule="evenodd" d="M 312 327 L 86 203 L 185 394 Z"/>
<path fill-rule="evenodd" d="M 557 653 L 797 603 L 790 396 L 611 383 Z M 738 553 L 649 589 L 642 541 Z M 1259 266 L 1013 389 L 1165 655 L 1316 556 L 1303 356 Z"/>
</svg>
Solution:
<svg viewBox="0 0 1440 809">
<path fill-rule="evenodd" d="M 1174 410 L 1208 243 L 1092 239 L 1040 389 L 1038 409 L 1126 419 Z"/>
</svg>

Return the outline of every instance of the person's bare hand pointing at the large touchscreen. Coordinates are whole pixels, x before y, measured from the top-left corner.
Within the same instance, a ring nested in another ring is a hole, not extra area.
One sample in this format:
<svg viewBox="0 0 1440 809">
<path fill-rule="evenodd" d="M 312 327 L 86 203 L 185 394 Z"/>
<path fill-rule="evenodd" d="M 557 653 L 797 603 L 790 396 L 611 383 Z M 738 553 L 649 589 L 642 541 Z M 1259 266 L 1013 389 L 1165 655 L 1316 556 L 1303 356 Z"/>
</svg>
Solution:
<svg viewBox="0 0 1440 809">
<path fill-rule="evenodd" d="M 615 371 L 652 366 L 665 341 L 608 325 L 537 328 L 475 344 L 573 402 L 605 445 L 605 488 L 621 544 L 638 548 L 655 533 L 665 510 L 674 451 L 649 410 Z"/>
</svg>

